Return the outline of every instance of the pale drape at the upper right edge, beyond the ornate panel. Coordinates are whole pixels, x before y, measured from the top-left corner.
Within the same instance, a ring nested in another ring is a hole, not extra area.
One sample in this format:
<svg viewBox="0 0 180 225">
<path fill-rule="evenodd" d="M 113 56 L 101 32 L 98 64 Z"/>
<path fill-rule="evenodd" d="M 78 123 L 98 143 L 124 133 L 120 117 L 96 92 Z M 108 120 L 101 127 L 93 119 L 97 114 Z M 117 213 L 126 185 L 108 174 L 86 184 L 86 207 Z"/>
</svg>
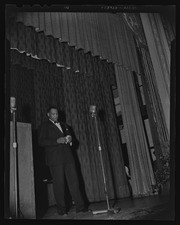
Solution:
<svg viewBox="0 0 180 225">
<path fill-rule="evenodd" d="M 170 133 L 170 51 L 162 23 L 157 15 L 140 14 L 153 65 L 154 78 L 161 100 L 162 114 Z"/>
</svg>

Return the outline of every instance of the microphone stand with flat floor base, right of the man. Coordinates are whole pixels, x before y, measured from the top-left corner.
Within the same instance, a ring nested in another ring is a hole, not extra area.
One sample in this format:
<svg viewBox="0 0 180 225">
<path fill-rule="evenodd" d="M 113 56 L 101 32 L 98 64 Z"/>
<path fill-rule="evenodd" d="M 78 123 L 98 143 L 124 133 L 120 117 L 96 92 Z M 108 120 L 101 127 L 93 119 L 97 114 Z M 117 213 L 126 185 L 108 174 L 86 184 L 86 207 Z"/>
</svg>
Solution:
<svg viewBox="0 0 180 225">
<path fill-rule="evenodd" d="M 104 172 L 104 164 L 103 164 L 103 158 L 102 158 L 102 148 L 101 148 L 101 143 L 100 143 L 100 138 L 99 138 L 96 112 L 92 111 L 91 116 L 95 120 L 96 135 L 97 135 L 97 141 L 98 141 L 98 150 L 99 150 L 99 154 L 100 154 L 101 168 L 102 168 L 103 181 L 104 181 L 104 193 L 105 193 L 105 196 L 106 196 L 106 203 L 107 203 L 107 210 L 96 210 L 96 211 L 93 211 L 93 214 L 101 214 L 101 213 L 117 214 L 117 213 L 119 213 L 120 208 L 113 209 L 113 208 L 110 208 L 110 206 L 109 206 L 109 198 L 108 198 L 107 185 L 106 185 L 106 176 L 105 176 L 105 172 Z"/>
</svg>

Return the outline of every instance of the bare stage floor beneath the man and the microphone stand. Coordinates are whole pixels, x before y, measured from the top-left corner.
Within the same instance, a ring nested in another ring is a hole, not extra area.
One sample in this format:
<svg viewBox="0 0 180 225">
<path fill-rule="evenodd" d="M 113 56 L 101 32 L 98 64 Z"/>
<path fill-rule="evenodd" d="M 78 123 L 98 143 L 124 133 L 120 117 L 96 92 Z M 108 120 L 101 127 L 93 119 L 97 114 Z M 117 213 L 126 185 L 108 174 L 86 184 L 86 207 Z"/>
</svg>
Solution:
<svg viewBox="0 0 180 225">
<path fill-rule="evenodd" d="M 126 198 L 118 201 L 110 200 L 110 208 L 120 208 L 117 214 L 102 213 L 94 215 L 89 213 L 76 214 L 75 208 L 67 216 L 57 214 L 56 207 L 51 206 L 41 219 L 48 220 L 174 220 L 169 211 L 169 198 L 167 196 L 150 196 L 143 198 Z M 114 206 L 113 206 L 114 205 Z M 106 202 L 91 203 L 89 208 L 94 212 L 106 210 Z"/>
</svg>

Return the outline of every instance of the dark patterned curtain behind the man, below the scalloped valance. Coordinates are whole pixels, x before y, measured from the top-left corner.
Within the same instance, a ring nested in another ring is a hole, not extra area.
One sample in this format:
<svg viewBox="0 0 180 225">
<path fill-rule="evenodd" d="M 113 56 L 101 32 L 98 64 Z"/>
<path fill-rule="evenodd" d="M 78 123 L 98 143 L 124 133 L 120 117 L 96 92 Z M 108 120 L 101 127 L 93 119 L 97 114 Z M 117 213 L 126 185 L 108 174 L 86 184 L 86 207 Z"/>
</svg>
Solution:
<svg viewBox="0 0 180 225">
<path fill-rule="evenodd" d="M 105 200 L 95 121 L 89 114 L 89 106 L 96 104 L 109 197 L 127 197 L 129 189 L 110 87 L 109 73 L 114 76 L 114 68 L 89 54 L 84 54 L 83 59 L 87 72 L 80 74 L 11 50 L 11 94 L 17 98 L 17 120 L 26 122 L 28 117 L 36 129 L 50 104 L 64 110 L 79 142 L 76 153 L 86 195 L 89 201 Z"/>
</svg>

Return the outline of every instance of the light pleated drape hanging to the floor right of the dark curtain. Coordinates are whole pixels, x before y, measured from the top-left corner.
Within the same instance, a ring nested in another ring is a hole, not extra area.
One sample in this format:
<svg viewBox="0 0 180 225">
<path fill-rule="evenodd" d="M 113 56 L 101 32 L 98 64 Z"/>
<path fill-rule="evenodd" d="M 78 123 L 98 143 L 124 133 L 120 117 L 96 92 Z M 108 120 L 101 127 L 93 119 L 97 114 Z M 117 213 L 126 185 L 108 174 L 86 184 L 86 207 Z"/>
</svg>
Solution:
<svg viewBox="0 0 180 225">
<path fill-rule="evenodd" d="M 132 73 L 117 65 L 115 69 L 126 131 L 133 195 L 150 195 L 155 180 Z"/>
</svg>

